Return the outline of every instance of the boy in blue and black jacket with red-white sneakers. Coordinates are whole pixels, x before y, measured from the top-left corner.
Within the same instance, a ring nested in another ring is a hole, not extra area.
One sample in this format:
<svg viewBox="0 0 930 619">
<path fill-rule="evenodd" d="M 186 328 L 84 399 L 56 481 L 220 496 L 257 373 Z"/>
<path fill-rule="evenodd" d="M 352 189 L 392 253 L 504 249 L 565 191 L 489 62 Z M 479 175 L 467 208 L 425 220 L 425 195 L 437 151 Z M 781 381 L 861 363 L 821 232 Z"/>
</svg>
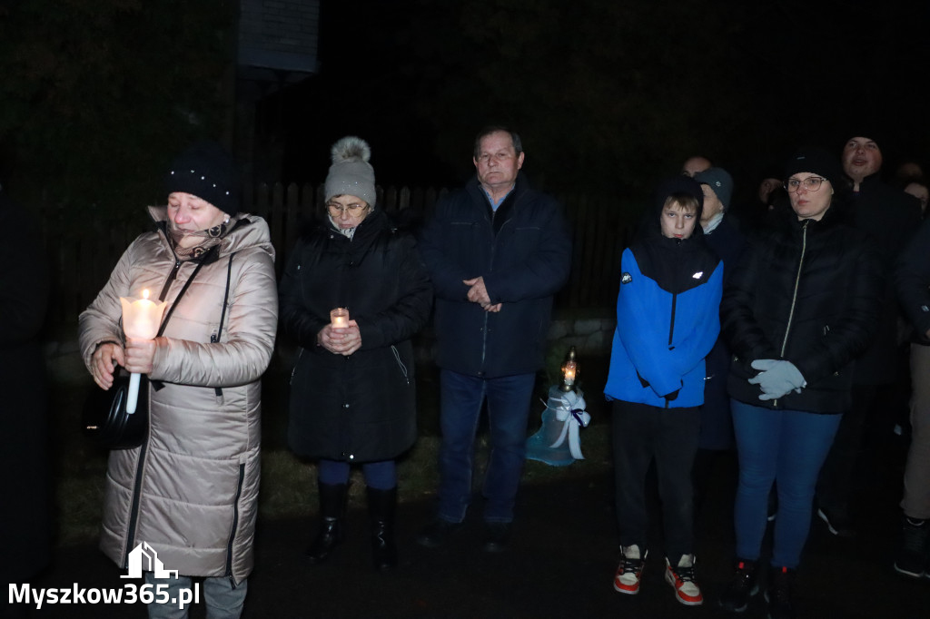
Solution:
<svg viewBox="0 0 930 619">
<path fill-rule="evenodd" d="M 704 402 L 704 358 L 720 333 L 723 264 L 704 242 L 700 186 L 670 178 L 643 239 L 623 252 L 610 370 L 621 560 L 614 588 L 639 592 L 646 549 L 645 475 L 655 458 L 665 529 L 665 579 L 675 599 L 703 602 L 695 582 L 691 468 Z"/>
</svg>

